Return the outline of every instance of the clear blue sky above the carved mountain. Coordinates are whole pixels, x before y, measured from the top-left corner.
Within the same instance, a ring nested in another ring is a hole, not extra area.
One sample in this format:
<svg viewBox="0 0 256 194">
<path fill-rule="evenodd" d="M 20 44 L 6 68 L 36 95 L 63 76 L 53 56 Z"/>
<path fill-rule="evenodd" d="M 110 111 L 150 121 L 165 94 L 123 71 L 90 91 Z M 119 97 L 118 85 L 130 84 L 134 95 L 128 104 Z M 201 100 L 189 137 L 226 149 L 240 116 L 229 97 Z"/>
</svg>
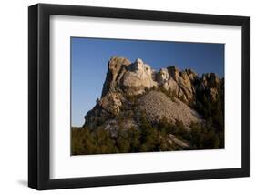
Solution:
<svg viewBox="0 0 256 194">
<path fill-rule="evenodd" d="M 71 120 L 82 126 L 84 116 L 100 97 L 111 56 L 124 56 L 133 62 L 141 58 L 152 68 L 178 66 L 199 75 L 224 75 L 224 45 L 147 40 L 71 38 Z"/>
</svg>

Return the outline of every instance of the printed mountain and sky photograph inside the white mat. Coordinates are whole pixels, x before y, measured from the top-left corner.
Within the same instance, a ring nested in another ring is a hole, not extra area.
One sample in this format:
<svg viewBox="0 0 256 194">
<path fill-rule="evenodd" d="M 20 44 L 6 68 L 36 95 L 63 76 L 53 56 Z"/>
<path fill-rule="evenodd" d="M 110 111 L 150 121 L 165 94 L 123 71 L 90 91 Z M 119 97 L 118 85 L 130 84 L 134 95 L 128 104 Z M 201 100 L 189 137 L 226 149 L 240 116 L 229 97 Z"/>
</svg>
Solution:
<svg viewBox="0 0 256 194">
<path fill-rule="evenodd" d="M 71 155 L 225 148 L 224 48 L 71 37 Z"/>
</svg>

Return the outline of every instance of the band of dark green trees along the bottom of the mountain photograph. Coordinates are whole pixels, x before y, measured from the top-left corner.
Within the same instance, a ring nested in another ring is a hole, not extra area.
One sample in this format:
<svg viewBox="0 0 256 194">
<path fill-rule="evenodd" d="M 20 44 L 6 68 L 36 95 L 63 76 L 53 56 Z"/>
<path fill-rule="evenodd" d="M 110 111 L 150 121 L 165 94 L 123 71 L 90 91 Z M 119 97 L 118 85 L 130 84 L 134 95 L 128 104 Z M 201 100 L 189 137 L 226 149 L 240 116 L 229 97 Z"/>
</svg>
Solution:
<svg viewBox="0 0 256 194">
<path fill-rule="evenodd" d="M 166 118 L 151 124 L 144 115 L 138 128 L 122 128 L 123 122 L 125 119 L 117 122 L 119 129 L 115 135 L 103 127 L 72 128 L 72 155 L 221 148 L 218 133 L 207 124 L 191 123 L 188 130 L 182 122 L 172 124 Z M 172 142 L 169 135 L 189 147 Z"/>
</svg>

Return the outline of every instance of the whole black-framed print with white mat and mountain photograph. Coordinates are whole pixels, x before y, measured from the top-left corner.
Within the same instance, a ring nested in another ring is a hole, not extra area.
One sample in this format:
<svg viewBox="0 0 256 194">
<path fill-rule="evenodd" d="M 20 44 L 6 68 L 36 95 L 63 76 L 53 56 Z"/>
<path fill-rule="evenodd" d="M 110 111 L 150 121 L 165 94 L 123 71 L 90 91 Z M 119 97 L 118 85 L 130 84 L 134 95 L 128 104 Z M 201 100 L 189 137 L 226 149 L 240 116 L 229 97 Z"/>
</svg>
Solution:
<svg viewBox="0 0 256 194">
<path fill-rule="evenodd" d="M 28 185 L 250 175 L 250 19 L 28 8 Z"/>
</svg>

